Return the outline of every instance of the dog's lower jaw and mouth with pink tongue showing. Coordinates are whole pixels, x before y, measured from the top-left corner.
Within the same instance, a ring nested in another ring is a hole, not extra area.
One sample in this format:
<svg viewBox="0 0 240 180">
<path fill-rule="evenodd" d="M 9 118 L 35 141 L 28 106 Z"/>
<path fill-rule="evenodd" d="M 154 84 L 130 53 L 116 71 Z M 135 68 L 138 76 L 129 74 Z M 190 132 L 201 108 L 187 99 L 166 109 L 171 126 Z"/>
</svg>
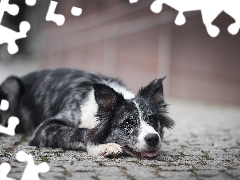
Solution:
<svg viewBox="0 0 240 180">
<path fill-rule="evenodd" d="M 123 147 L 124 152 L 127 153 L 128 155 L 131 155 L 133 157 L 142 159 L 155 159 L 158 155 L 158 150 L 154 150 L 154 151 L 143 151 L 143 152 L 137 152 L 135 151 L 133 148 L 125 145 Z"/>
</svg>

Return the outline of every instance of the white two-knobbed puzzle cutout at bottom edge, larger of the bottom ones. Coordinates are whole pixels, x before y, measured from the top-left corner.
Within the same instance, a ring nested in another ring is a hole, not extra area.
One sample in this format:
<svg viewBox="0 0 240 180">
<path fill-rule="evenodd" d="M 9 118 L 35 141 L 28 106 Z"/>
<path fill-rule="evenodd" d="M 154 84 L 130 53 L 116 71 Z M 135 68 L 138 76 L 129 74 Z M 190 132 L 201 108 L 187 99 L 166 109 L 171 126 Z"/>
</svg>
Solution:
<svg viewBox="0 0 240 180">
<path fill-rule="evenodd" d="M 32 155 L 28 155 L 24 151 L 19 151 L 16 154 L 16 158 L 20 162 L 27 162 L 27 166 L 23 172 L 21 180 L 40 180 L 38 174 L 49 171 L 49 165 L 46 162 L 35 165 Z"/>
</svg>

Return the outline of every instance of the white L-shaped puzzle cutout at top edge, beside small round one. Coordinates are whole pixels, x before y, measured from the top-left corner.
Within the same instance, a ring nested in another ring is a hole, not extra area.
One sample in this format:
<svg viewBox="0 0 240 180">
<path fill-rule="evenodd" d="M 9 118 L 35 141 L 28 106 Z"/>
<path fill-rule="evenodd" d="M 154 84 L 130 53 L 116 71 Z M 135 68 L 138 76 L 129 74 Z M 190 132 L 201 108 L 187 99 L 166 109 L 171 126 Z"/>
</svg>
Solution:
<svg viewBox="0 0 240 180">
<path fill-rule="evenodd" d="M 56 1 L 51 1 L 47 16 L 46 16 L 46 21 L 53 21 L 55 22 L 58 26 L 62 26 L 65 22 L 65 17 L 61 14 L 55 14 L 55 9 L 58 5 L 58 2 Z"/>
</svg>

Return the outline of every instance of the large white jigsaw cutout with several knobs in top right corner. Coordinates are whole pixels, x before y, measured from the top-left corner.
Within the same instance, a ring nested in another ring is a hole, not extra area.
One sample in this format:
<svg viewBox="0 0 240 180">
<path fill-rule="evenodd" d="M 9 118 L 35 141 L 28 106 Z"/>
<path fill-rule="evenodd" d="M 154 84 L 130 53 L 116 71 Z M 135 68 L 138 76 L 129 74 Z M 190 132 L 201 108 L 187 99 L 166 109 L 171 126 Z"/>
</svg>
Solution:
<svg viewBox="0 0 240 180">
<path fill-rule="evenodd" d="M 235 23 L 228 27 L 228 32 L 235 35 L 240 29 L 239 0 L 155 0 L 151 5 L 151 10 L 154 13 L 160 13 L 163 4 L 179 12 L 175 20 L 177 25 L 183 25 L 186 22 L 184 12 L 201 10 L 203 23 L 208 34 L 212 37 L 216 37 L 220 32 L 219 28 L 214 26 L 212 22 L 222 11 L 235 20 Z"/>
</svg>

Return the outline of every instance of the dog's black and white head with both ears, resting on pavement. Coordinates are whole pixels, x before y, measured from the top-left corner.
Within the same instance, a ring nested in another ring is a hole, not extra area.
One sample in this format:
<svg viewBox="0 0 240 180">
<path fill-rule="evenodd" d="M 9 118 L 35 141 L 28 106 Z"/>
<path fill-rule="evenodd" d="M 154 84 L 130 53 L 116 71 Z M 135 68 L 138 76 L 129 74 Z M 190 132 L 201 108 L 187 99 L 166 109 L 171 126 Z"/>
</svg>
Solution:
<svg viewBox="0 0 240 180">
<path fill-rule="evenodd" d="M 117 143 L 134 157 L 156 157 L 162 144 L 163 128 L 174 125 L 167 116 L 164 79 L 156 79 L 141 88 L 133 99 L 124 99 L 122 94 L 104 84 L 94 84 L 99 124 L 89 131 L 88 139 L 96 143 Z"/>
</svg>

